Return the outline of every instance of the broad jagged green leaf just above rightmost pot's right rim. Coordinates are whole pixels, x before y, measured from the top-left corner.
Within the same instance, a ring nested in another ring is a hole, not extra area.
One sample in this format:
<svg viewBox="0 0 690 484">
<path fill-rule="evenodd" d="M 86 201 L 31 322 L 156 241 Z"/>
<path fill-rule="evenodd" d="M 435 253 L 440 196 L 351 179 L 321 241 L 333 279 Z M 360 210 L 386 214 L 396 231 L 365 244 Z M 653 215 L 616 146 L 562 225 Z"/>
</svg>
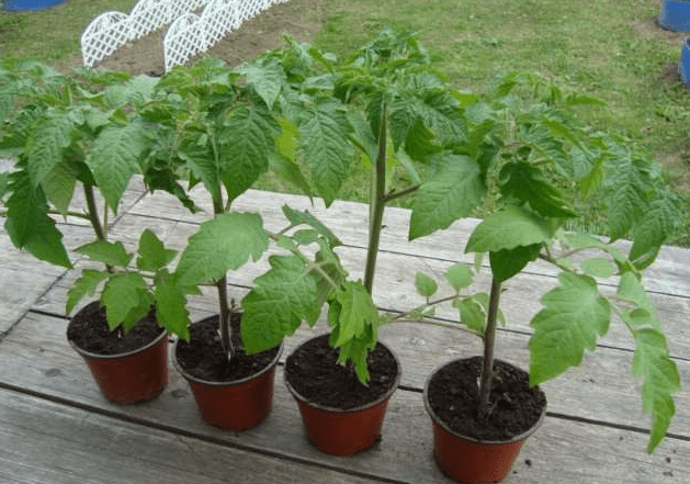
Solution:
<svg viewBox="0 0 690 484">
<path fill-rule="evenodd" d="M 544 306 L 531 320 L 530 383 L 551 380 L 582 361 L 597 338 L 609 329 L 611 307 L 588 275 L 558 274 L 559 285 L 541 300 Z"/>
</svg>

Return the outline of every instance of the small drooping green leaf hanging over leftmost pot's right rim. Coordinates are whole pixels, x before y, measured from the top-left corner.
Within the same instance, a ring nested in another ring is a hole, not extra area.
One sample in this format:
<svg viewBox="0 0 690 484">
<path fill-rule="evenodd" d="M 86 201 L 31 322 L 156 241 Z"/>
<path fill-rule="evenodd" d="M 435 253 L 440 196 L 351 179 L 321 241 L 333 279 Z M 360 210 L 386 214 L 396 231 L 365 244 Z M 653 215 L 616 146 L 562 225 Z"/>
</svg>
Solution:
<svg viewBox="0 0 690 484">
<path fill-rule="evenodd" d="M 177 278 L 168 277 L 156 283 L 154 301 L 158 324 L 168 333 L 189 342 L 190 315 L 186 311 L 186 292 Z"/>
</svg>

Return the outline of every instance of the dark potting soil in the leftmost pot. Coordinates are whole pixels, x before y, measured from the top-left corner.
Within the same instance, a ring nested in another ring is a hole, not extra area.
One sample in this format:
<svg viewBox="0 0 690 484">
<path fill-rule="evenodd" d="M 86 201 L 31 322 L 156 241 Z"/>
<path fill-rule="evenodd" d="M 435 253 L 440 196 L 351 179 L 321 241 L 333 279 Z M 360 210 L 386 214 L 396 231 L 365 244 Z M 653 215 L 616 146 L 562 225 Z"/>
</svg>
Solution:
<svg viewBox="0 0 690 484">
<path fill-rule="evenodd" d="M 105 318 L 105 308 L 94 301 L 71 318 L 67 325 L 67 339 L 92 353 L 120 354 L 145 347 L 162 331 L 156 322 L 154 309 L 126 335 L 121 328 L 111 331 Z"/>
</svg>

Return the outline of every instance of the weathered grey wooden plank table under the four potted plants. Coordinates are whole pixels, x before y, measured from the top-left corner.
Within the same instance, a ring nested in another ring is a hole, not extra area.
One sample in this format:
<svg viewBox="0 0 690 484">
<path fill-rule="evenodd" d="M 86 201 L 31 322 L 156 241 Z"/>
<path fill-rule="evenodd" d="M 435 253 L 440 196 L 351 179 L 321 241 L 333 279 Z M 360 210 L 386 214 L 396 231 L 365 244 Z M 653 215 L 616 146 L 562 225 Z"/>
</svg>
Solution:
<svg viewBox="0 0 690 484">
<path fill-rule="evenodd" d="M 257 211 L 271 227 L 282 226 L 281 205 L 309 207 L 308 199 L 250 191 L 238 211 Z M 351 275 L 361 277 L 366 207 L 338 202 L 313 212 L 327 220 L 344 243 L 339 249 Z M 127 191 L 112 236 L 128 246 L 143 227 L 181 248 L 204 214 L 192 215 L 166 194 L 145 195 L 136 183 Z M 375 300 L 382 309 L 420 303 L 414 292 L 418 270 L 441 277 L 463 255 L 476 221 L 407 241 L 409 212 L 389 209 L 384 223 Z M 89 240 L 78 223 L 65 224 L 68 247 Z M 75 255 L 75 259 L 77 259 Z M 467 259 L 468 260 L 468 259 Z M 81 264 L 78 263 L 78 267 Z M 240 299 L 265 261 L 229 274 L 229 291 Z M 509 319 L 498 335 L 498 354 L 528 365 L 528 325 L 540 296 L 555 285 L 548 267 L 532 264 L 510 281 L 502 299 Z M 401 386 L 394 394 L 383 439 L 350 459 L 316 451 L 307 441 L 297 406 L 282 381 L 264 423 L 244 434 L 206 425 L 182 378 L 170 367 L 170 383 L 152 402 L 118 406 L 105 401 L 80 357 L 65 338 L 67 288 L 77 271 L 34 261 L 0 235 L 0 482 L 1 483 L 449 483 L 432 455 L 431 424 L 421 389 L 437 365 L 479 352 L 479 341 L 448 327 L 397 324 L 382 340 L 403 363 Z M 482 284 L 487 284 L 485 277 Z M 630 374 L 632 341 L 612 325 L 580 368 L 543 385 L 548 397 L 544 425 L 528 440 L 510 483 L 689 483 L 690 482 L 690 250 L 665 248 L 645 279 L 660 313 L 685 386 L 669 437 L 655 454 L 645 452 L 649 418 L 642 413 L 640 382 Z M 613 288 L 611 289 L 613 291 Z M 215 299 L 194 297 L 193 318 L 212 314 Z M 449 322 L 449 309 L 439 317 Z M 286 341 L 289 353 L 313 336 L 301 330 Z M 284 354 L 285 354 L 284 353 Z"/>
</svg>

